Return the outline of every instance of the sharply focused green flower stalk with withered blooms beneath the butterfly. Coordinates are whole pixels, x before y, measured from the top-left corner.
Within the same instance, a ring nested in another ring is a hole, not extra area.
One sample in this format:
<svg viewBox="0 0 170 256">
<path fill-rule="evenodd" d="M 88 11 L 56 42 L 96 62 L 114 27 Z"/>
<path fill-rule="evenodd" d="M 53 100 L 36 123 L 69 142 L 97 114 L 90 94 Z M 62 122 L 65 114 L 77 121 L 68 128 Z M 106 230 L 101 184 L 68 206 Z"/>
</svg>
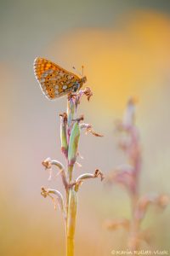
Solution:
<svg viewBox="0 0 170 256">
<path fill-rule="evenodd" d="M 73 180 L 74 166 L 77 163 L 78 146 L 82 129 L 91 132 L 96 137 L 101 137 L 96 133 L 92 125 L 82 124 L 83 116 L 75 117 L 77 107 L 81 102 L 82 96 L 87 96 L 88 101 L 92 92 L 89 88 L 80 90 L 77 93 L 72 93 L 68 96 L 67 112 L 59 114 L 60 116 L 60 142 L 61 152 L 65 155 L 67 168 L 63 166 L 59 160 L 51 160 L 50 158 L 42 161 L 42 165 L 46 170 L 51 172 L 52 167 L 59 168 L 57 175 L 62 178 L 62 183 L 65 188 L 65 199 L 63 195 L 56 189 L 45 189 L 42 187 L 42 196 L 50 197 L 54 202 L 59 205 L 60 211 L 63 213 L 65 220 L 65 236 L 66 236 L 66 256 L 74 256 L 75 252 L 75 230 L 77 220 L 77 192 L 85 179 L 100 177 L 101 181 L 104 176 L 98 169 L 91 173 L 83 173 L 77 177 L 76 181 Z M 56 197 L 56 199 L 55 199 Z M 64 202 L 65 201 L 65 202 Z"/>
</svg>

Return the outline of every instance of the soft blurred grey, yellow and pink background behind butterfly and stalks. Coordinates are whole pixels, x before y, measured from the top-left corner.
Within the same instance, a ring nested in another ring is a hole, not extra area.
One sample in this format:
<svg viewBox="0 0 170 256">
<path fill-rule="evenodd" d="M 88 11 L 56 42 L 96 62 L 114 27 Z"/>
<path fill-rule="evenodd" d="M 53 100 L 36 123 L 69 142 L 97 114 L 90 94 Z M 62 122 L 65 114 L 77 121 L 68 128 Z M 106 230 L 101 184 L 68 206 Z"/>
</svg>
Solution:
<svg viewBox="0 0 170 256">
<path fill-rule="evenodd" d="M 50 102 L 34 77 L 42 56 L 88 77 L 94 96 L 78 113 L 105 137 L 82 133 L 75 177 L 95 168 L 108 173 L 125 161 L 116 148 L 114 120 L 129 96 L 137 96 L 137 125 L 143 150 L 141 194 L 169 194 L 170 178 L 170 1 L 0 1 L 0 255 L 65 254 L 59 210 L 40 195 L 41 186 L 63 191 L 59 177 L 48 181 L 42 160 L 65 164 L 60 153 L 59 113 L 66 98 Z M 105 230 L 106 218 L 130 216 L 129 198 L 99 180 L 82 185 L 77 212 L 76 255 L 111 255 L 126 248 L 124 230 Z M 151 208 L 152 247 L 169 249 L 170 209 Z"/>
</svg>

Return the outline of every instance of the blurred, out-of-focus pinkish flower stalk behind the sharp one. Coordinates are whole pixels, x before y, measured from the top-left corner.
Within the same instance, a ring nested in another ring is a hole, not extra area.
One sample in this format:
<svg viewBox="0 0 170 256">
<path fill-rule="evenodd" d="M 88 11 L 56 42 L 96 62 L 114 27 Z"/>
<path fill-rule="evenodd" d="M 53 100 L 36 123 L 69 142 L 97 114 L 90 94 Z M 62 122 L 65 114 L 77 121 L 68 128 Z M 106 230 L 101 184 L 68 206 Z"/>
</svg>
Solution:
<svg viewBox="0 0 170 256">
<path fill-rule="evenodd" d="M 167 195 L 139 195 L 139 177 L 141 172 L 141 148 L 139 142 L 139 131 L 135 125 L 135 103 L 134 98 L 127 102 L 127 108 L 122 120 L 116 121 L 116 132 L 119 134 L 119 147 L 127 156 L 127 164 L 118 166 L 116 170 L 106 177 L 107 183 L 120 183 L 127 190 L 131 200 L 131 218 L 127 220 L 107 221 L 109 230 L 123 227 L 128 232 L 127 247 L 130 251 L 138 251 L 141 241 L 148 241 L 148 232 L 141 229 L 141 223 L 150 205 L 164 208 L 169 204 Z"/>
</svg>

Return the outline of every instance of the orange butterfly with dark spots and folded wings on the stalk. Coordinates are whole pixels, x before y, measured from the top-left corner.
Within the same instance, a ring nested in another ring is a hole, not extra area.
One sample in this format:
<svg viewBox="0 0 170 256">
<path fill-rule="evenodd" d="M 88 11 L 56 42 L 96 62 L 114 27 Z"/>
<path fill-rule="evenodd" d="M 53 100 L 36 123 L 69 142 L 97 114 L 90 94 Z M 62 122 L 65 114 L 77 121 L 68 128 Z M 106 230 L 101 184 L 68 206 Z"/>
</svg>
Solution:
<svg viewBox="0 0 170 256">
<path fill-rule="evenodd" d="M 87 81 L 86 77 L 79 78 L 52 61 L 40 57 L 34 61 L 34 73 L 42 93 L 49 100 L 77 92 Z"/>
</svg>

